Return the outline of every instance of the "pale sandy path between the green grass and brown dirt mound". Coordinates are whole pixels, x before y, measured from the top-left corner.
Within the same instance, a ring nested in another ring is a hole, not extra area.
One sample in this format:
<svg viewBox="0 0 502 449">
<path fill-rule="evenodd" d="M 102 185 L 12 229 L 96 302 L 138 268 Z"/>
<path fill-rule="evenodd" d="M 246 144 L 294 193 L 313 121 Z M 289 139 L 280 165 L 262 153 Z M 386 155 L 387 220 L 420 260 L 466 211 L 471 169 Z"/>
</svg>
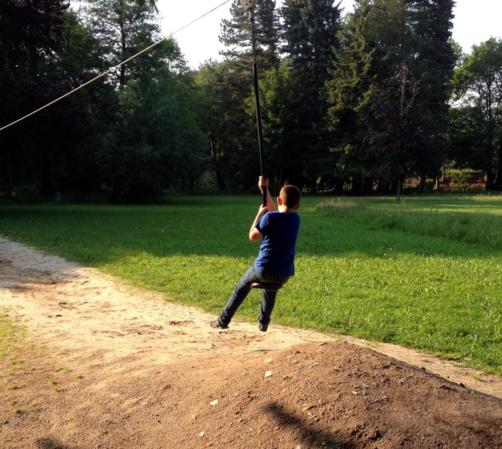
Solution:
<svg viewBox="0 0 502 449">
<path fill-rule="evenodd" d="M 274 327 L 263 334 L 238 322 L 230 330 L 209 328 L 207 313 L 166 302 L 117 279 L 0 238 L 0 308 L 19 316 L 31 338 L 68 352 L 91 366 L 115 357 L 141 357 L 145 367 L 204 353 L 266 351 L 304 342 L 336 340 L 306 330 Z M 343 337 L 357 345 L 369 343 Z M 437 357 L 389 344 L 370 344 L 382 354 L 502 398 L 502 378 L 455 366 Z M 124 367 L 126 369 L 126 367 Z"/>
</svg>

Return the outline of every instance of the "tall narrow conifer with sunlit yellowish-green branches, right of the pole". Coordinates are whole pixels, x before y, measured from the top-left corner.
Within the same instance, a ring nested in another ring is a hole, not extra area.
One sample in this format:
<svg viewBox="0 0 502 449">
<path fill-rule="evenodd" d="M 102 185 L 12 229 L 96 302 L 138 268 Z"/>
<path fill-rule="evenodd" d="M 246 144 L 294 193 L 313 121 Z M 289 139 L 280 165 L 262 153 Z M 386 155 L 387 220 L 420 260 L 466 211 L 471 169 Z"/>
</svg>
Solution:
<svg viewBox="0 0 502 449">
<path fill-rule="evenodd" d="M 353 193 L 362 193 L 372 165 L 364 151 L 367 125 L 363 118 L 378 61 L 375 59 L 378 46 L 370 37 L 371 4 L 372 0 L 356 1 L 353 14 L 346 18 L 326 81 L 332 156 L 329 167 L 338 193 L 345 184 L 351 184 Z"/>
</svg>

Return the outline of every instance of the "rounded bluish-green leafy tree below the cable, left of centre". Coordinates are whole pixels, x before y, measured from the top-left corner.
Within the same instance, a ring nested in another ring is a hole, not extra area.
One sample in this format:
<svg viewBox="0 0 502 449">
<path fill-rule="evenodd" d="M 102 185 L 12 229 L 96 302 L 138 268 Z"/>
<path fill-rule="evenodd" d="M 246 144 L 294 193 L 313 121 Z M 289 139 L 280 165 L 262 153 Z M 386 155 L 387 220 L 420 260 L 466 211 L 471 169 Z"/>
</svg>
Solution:
<svg viewBox="0 0 502 449">
<path fill-rule="evenodd" d="M 108 128 L 97 155 L 114 202 L 155 201 L 162 189 L 198 174 L 205 138 L 175 74 L 165 67 L 149 83 L 130 81 L 118 100 L 122 126 Z"/>
</svg>

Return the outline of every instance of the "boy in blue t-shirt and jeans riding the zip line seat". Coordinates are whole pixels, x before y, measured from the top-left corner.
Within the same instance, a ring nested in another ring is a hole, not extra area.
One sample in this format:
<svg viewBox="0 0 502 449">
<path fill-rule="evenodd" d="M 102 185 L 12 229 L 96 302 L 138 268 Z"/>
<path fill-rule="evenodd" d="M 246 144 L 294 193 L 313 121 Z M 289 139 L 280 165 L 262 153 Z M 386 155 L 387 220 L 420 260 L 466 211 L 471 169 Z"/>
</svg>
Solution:
<svg viewBox="0 0 502 449">
<path fill-rule="evenodd" d="M 258 186 L 263 188 L 269 181 L 260 177 Z M 260 252 L 253 266 L 242 276 L 235 286 L 227 305 L 217 320 L 212 321 L 212 328 L 227 329 L 232 317 L 251 290 L 254 282 L 269 282 L 284 285 L 295 273 L 294 258 L 296 239 L 300 229 L 300 216 L 296 213 L 300 207 L 301 191 L 295 186 L 284 186 L 277 198 L 276 209 L 267 189 L 267 207 L 260 206 L 255 221 L 249 230 L 249 240 L 256 242 L 263 237 Z M 258 326 L 267 332 L 270 315 L 276 302 L 277 288 L 264 288 L 262 307 L 258 315 Z"/>
</svg>

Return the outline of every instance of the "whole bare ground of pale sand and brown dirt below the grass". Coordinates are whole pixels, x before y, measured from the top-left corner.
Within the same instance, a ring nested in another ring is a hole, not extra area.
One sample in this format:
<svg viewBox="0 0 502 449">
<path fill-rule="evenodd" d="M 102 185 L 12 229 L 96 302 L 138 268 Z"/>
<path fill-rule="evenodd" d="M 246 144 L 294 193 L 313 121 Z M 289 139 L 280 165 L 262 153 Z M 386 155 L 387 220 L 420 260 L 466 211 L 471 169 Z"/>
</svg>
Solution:
<svg viewBox="0 0 502 449">
<path fill-rule="evenodd" d="M 502 447 L 498 376 L 274 323 L 214 330 L 205 312 L 5 239 L 0 286 L 0 312 L 36 343 L 0 364 L 0 447 Z"/>
</svg>

